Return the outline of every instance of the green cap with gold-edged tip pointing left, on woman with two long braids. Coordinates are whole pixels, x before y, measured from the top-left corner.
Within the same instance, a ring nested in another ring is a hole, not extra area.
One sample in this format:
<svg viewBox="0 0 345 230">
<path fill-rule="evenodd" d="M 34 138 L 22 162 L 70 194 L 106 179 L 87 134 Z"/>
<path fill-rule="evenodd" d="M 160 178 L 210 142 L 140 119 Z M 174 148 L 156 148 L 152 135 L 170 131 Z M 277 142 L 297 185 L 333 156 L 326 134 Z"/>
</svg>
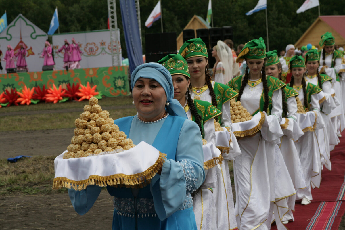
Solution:
<svg viewBox="0 0 345 230">
<path fill-rule="evenodd" d="M 264 39 L 253 39 L 248 41 L 236 58 L 236 62 L 242 62 L 247 59 L 264 59 L 266 58 L 266 45 Z"/>
</svg>

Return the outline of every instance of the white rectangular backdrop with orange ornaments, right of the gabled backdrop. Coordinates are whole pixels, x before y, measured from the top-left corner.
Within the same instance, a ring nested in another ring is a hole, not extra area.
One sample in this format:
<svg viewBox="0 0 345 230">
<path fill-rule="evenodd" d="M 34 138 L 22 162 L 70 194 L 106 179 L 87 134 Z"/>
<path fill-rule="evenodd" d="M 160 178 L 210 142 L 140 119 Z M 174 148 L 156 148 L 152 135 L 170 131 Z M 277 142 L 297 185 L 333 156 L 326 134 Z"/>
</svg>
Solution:
<svg viewBox="0 0 345 230">
<path fill-rule="evenodd" d="M 119 34 L 118 37 L 120 37 Z M 72 38 L 76 40 L 80 50 L 83 52 L 80 61 L 81 68 L 112 66 L 109 30 L 54 34 L 52 38 L 55 69 L 57 70 L 63 69 L 63 51 L 58 54 L 56 51 L 63 46 L 65 39 L 67 39 L 69 43 L 72 43 Z M 120 60 L 122 60 L 120 42 L 114 48 L 115 53 L 119 52 Z"/>
</svg>

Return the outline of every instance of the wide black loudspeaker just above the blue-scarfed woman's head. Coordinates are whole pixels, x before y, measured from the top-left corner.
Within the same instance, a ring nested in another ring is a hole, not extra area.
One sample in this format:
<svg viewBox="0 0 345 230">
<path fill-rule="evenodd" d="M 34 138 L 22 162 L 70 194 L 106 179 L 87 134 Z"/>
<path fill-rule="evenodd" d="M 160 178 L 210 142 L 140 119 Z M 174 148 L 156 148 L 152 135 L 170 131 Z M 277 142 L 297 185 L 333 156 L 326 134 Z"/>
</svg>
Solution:
<svg viewBox="0 0 345 230">
<path fill-rule="evenodd" d="M 146 55 L 176 53 L 176 33 L 169 32 L 146 34 L 145 47 Z"/>
</svg>

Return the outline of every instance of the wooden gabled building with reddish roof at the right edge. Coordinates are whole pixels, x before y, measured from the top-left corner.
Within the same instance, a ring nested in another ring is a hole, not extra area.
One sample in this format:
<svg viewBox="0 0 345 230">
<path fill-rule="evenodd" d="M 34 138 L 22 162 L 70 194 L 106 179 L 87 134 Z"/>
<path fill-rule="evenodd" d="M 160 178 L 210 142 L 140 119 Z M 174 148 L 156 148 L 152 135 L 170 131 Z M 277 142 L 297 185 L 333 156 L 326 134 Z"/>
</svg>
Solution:
<svg viewBox="0 0 345 230">
<path fill-rule="evenodd" d="M 332 33 L 335 38 L 335 44 L 345 46 L 345 15 L 319 16 L 298 39 L 295 47 L 301 48 L 311 43 L 320 48 L 319 41 L 326 32 Z"/>
</svg>

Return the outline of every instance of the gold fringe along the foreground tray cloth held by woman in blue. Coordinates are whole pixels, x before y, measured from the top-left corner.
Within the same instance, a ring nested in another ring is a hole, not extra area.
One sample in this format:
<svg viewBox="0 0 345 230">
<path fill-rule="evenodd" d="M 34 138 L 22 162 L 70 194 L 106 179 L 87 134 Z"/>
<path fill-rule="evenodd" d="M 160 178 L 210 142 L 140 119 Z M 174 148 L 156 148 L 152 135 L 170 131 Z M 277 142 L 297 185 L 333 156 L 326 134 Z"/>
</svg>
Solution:
<svg viewBox="0 0 345 230">
<path fill-rule="evenodd" d="M 126 186 L 129 188 L 142 188 L 150 183 L 150 180 L 156 175 L 167 159 L 167 154 L 159 152 L 159 157 L 154 165 L 144 172 L 136 174 L 118 173 L 110 176 L 91 175 L 86 180 L 70 180 L 66 177 L 56 177 L 53 181 L 52 189 L 69 188 L 77 191 L 86 189 L 89 185 L 106 186 Z"/>
</svg>

